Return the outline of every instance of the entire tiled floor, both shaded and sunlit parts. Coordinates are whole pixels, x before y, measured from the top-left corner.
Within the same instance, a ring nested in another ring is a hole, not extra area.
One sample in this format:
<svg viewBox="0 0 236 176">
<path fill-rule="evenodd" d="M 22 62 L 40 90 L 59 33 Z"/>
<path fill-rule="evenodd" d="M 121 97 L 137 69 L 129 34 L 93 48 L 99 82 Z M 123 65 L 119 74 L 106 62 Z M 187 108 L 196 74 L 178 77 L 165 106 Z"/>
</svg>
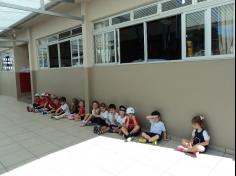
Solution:
<svg viewBox="0 0 236 176">
<path fill-rule="evenodd" d="M 209 151 L 193 158 L 158 146 L 96 136 L 91 127 L 25 112 L 25 104 L 0 96 L 0 175 L 4 176 L 233 176 L 234 156 Z"/>
</svg>

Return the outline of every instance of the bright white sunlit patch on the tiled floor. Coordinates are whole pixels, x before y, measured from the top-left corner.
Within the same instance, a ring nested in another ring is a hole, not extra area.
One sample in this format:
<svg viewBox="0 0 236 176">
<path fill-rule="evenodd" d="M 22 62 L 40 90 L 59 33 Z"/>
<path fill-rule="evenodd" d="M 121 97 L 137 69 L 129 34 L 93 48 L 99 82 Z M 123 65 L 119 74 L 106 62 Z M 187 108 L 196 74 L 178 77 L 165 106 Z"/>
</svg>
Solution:
<svg viewBox="0 0 236 176">
<path fill-rule="evenodd" d="M 193 158 L 171 148 L 97 137 L 52 153 L 2 176 L 234 175 L 229 158 Z M 201 174 L 200 174 L 201 173 Z"/>
</svg>

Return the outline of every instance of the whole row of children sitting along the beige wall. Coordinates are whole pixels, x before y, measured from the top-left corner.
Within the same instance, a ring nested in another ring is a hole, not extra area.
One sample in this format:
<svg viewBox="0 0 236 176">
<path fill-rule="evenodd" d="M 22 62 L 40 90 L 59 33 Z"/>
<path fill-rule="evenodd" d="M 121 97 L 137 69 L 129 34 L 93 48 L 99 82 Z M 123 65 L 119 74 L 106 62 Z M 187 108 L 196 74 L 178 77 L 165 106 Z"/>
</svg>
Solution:
<svg viewBox="0 0 236 176">
<path fill-rule="evenodd" d="M 107 132 L 123 135 L 125 141 L 131 141 L 134 137 L 140 136 L 139 142 L 157 144 L 160 140 L 168 140 L 165 124 L 161 120 L 161 114 L 154 111 L 146 119 L 150 122 L 150 130 L 141 133 L 141 125 L 138 117 L 135 115 L 133 107 L 126 108 L 119 106 L 118 110 L 115 104 L 107 106 L 98 101 L 92 102 L 91 113 L 85 112 L 85 101 L 72 99 L 71 107 L 66 102 L 65 97 L 58 98 L 49 93 L 35 94 L 34 104 L 27 107 L 28 112 L 42 113 L 50 115 L 52 119 L 59 120 L 68 118 L 69 120 L 81 121 L 80 126 L 93 125 L 94 133 L 101 135 Z M 203 116 L 195 116 L 192 119 L 192 138 L 191 140 L 182 140 L 182 146 L 177 150 L 188 153 L 206 152 L 210 136 L 205 128 L 205 119 Z"/>
</svg>

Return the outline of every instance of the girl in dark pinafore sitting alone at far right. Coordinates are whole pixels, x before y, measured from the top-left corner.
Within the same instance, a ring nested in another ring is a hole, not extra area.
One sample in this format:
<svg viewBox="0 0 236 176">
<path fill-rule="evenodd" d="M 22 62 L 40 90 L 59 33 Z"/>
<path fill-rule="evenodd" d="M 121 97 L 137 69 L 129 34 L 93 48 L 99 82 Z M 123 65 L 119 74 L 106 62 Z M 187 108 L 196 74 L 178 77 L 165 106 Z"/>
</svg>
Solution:
<svg viewBox="0 0 236 176">
<path fill-rule="evenodd" d="M 177 150 L 180 152 L 193 153 L 197 156 L 199 153 L 205 153 L 207 151 L 210 136 L 206 131 L 205 118 L 201 115 L 195 116 L 192 119 L 192 139 L 183 139 L 183 146 L 178 146 Z"/>
</svg>

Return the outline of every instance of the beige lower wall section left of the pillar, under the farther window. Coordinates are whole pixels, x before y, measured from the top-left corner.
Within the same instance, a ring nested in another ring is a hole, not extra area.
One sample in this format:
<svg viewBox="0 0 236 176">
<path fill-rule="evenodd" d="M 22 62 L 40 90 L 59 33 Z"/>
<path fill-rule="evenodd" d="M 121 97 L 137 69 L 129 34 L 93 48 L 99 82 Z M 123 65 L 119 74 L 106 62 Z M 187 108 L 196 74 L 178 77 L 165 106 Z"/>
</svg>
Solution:
<svg viewBox="0 0 236 176">
<path fill-rule="evenodd" d="M 84 99 L 84 69 L 65 68 L 34 72 L 36 92 L 48 91 L 58 96 Z"/>
</svg>

